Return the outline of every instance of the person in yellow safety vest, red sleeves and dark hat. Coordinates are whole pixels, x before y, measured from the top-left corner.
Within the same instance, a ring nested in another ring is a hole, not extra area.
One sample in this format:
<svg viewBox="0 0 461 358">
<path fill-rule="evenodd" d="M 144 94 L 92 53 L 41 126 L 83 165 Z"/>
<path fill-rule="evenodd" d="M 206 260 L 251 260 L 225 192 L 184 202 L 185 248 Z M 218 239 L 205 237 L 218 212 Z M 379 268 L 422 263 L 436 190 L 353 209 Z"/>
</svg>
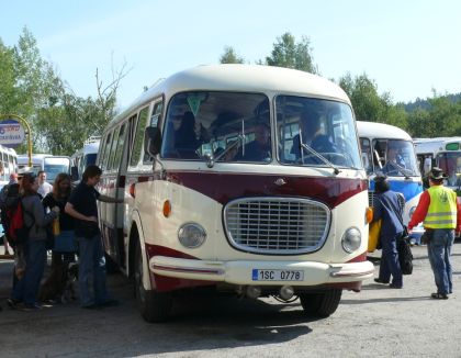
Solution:
<svg viewBox="0 0 461 358">
<path fill-rule="evenodd" d="M 457 193 L 443 187 L 447 176 L 440 168 L 434 167 L 429 172 L 430 188 L 419 198 L 408 230 L 423 221 L 427 238 L 427 253 L 436 280 L 437 292 L 430 297 L 447 300 L 453 292 L 450 254 L 454 242 L 454 232 L 461 231 L 461 205 L 457 203 Z"/>
</svg>

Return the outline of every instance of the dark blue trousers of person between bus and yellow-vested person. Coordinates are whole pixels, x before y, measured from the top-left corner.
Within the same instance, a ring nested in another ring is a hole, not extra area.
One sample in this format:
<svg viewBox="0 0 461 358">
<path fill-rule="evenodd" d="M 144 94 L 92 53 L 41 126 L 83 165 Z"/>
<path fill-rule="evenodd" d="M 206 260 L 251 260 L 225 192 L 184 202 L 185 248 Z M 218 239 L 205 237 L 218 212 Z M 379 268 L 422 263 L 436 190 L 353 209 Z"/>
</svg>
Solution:
<svg viewBox="0 0 461 358">
<path fill-rule="evenodd" d="M 396 236 L 401 236 L 401 234 L 397 234 Z M 392 283 L 395 286 L 402 286 L 402 269 L 401 264 L 398 262 L 396 237 L 381 237 L 381 246 L 383 254 L 381 256 L 380 280 L 389 282 L 392 275 Z"/>
</svg>

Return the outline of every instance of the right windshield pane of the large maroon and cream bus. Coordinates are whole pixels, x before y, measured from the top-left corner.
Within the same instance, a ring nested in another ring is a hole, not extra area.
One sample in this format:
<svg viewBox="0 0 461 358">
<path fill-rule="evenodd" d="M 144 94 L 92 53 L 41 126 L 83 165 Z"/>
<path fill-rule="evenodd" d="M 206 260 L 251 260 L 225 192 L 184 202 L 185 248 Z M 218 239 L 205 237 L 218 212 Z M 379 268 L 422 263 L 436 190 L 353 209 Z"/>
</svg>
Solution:
<svg viewBox="0 0 461 358">
<path fill-rule="evenodd" d="M 321 99 L 278 96 L 278 157 L 285 165 L 361 168 L 349 105 Z M 319 156 L 318 156 L 319 155 Z"/>
</svg>

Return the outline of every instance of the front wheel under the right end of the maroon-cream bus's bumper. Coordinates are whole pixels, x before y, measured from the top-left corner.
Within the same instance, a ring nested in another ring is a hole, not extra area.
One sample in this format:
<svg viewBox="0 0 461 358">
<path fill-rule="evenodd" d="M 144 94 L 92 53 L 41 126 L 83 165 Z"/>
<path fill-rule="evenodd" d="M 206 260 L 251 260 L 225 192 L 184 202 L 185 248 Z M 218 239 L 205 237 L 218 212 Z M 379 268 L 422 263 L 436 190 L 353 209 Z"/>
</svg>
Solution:
<svg viewBox="0 0 461 358">
<path fill-rule="evenodd" d="M 306 314 L 317 317 L 328 317 L 335 313 L 341 300 L 342 290 L 333 289 L 318 293 L 301 293 L 301 305 Z"/>
</svg>

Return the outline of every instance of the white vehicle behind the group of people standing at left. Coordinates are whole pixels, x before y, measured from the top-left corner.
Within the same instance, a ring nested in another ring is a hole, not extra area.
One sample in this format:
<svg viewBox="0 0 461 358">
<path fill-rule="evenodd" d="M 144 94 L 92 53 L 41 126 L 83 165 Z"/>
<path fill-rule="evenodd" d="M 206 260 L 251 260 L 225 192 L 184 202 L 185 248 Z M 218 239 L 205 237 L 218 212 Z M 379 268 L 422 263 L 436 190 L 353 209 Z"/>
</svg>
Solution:
<svg viewBox="0 0 461 358">
<path fill-rule="evenodd" d="M 43 170 L 46 172 L 46 181 L 53 184 L 59 172 L 70 175 L 70 158 L 66 156 L 54 156 L 50 154 L 32 155 L 32 167 L 29 166 L 29 156 L 22 154 L 18 156 L 18 168 L 22 171 L 31 170 L 35 174 Z"/>
</svg>

